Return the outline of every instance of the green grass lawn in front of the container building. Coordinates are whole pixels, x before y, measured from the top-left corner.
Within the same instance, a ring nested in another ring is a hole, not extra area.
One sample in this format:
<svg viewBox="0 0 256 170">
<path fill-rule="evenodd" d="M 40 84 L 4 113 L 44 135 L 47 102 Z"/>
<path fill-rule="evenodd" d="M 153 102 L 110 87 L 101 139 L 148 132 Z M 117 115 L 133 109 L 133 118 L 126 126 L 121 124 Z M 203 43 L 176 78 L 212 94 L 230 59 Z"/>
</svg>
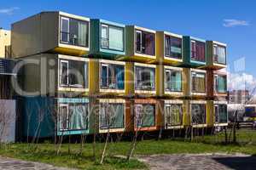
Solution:
<svg viewBox="0 0 256 170">
<path fill-rule="evenodd" d="M 171 139 L 143 140 L 137 144 L 136 155 L 153 154 L 178 154 L 178 153 L 245 153 L 256 155 L 256 131 L 239 131 L 237 139 L 240 144 L 224 145 L 218 143 L 224 141 L 224 134 L 205 136 L 203 139 L 195 138 L 194 142 L 177 141 Z M 79 169 L 147 169 L 147 166 L 140 161 L 131 160 L 126 162 L 113 156 L 127 154 L 130 142 L 109 143 L 107 156 L 103 165 L 100 161 L 103 150 L 103 143 L 96 144 L 96 158 L 93 161 L 92 144 L 84 144 L 83 156 L 79 156 L 79 144 L 71 144 L 71 154 L 68 154 L 67 144 L 61 147 L 61 156 L 55 156 L 53 144 L 38 144 L 34 151 L 32 146 L 27 144 L 8 144 L 5 149 L 0 150 L 0 155 L 14 157 L 28 161 L 41 161 L 59 167 L 74 167 Z"/>
</svg>

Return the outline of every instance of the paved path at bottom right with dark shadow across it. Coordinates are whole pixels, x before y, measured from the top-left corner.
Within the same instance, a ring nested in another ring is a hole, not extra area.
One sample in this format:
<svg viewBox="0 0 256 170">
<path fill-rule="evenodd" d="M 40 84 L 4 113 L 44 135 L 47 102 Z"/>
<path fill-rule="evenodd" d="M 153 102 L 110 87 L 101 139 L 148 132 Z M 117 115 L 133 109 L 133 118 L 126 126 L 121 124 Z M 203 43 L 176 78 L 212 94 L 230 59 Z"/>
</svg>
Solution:
<svg viewBox="0 0 256 170">
<path fill-rule="evenodd" d="M 256 156 L 247 155 L 155 155 L 140 156 L 151 170 L 256 170 Z"/>
</svg>

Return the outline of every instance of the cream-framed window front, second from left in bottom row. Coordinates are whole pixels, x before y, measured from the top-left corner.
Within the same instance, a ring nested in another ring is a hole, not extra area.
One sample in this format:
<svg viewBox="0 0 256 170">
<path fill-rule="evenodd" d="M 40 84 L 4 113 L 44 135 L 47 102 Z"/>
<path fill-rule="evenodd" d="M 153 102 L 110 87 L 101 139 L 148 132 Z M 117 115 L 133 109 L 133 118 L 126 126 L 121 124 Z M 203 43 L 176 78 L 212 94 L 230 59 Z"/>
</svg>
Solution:
<svg viewBox="0 0 256 170">
<path fill-rule="evenodd" d="M 125 131 L 125 100 L 100 99 L 99 133 Z"/>
</svg>

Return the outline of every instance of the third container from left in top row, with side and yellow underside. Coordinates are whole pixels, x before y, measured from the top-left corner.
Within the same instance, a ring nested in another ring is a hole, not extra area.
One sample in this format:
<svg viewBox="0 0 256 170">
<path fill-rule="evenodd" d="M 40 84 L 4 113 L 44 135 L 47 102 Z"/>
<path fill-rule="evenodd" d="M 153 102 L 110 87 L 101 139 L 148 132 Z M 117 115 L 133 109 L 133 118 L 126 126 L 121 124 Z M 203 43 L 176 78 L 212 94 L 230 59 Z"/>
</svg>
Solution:
<svg viewBox="0 0 256 170">
<path fill-rule="evenodd" d="M 155 31 L 125 26 L 125 56 L 120 60 L 148 63 L 155 60 Z"/>
</svg>

